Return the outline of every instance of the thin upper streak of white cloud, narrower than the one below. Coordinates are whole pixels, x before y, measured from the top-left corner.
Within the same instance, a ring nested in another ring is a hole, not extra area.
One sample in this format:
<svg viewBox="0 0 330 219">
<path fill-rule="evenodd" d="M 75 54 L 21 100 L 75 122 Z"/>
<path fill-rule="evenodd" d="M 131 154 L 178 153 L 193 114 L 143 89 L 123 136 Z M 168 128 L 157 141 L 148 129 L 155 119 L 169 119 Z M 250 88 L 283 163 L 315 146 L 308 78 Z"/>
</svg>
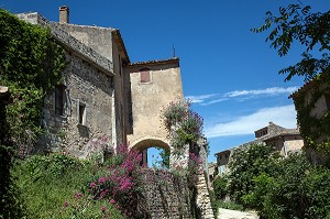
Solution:
<svg viewBox="0 0 330 219">
<path fill-rule="evenodd" d="M 258 95 L 284 95 L 284 94 L 293 94 L 296 91 L 298 87 L 271 87 L 265 89 L 258 89 L 258 90 L 234 90 L 224 94 L 224 97 L 240 97 L 240 96 L 258 96 Z"/>
</svg>

